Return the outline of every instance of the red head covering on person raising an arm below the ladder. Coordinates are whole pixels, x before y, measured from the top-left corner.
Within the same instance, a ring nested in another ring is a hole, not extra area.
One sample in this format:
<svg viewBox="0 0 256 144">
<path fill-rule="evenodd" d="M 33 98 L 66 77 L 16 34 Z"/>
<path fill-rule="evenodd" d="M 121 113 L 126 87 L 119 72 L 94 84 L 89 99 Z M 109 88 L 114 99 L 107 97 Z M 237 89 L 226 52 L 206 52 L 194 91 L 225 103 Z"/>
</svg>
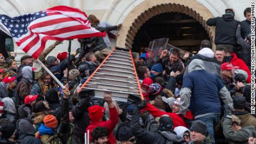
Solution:
<svg viewBox="0 0 256 144">
<path fill-rule="evenodd" d="M 100 121 L 103 117 L 103 113 L 106 109 L 104 107 L 95 105 L 88 108 L 89 118 L 93 122 Z"/>
</svg>

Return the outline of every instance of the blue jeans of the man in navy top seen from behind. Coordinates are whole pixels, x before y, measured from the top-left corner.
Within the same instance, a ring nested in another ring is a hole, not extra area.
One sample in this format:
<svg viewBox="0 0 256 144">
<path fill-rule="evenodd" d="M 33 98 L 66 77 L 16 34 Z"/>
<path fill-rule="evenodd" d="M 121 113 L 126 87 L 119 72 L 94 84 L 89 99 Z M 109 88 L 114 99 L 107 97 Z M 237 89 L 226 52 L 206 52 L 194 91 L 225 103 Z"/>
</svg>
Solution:
<svg viewBox="0 0 256 144">
<path fill-rule="evenodd" d="M 211 136 L 211 141 L 214 142 L 214 143 L 215 143 L 214 127 L 216 125 L 218 125 L 218 123 L 220 121 L 219 117 L 220 117 L 220 114 L 211 114 L 211 115 L 206 115 L 206 116 L 203 116 L 203 117 L 196 118 L 196 120 L 203 121 L 206 124 L 206 130 L 208 131 L 208 133 Z"/>
</svg>

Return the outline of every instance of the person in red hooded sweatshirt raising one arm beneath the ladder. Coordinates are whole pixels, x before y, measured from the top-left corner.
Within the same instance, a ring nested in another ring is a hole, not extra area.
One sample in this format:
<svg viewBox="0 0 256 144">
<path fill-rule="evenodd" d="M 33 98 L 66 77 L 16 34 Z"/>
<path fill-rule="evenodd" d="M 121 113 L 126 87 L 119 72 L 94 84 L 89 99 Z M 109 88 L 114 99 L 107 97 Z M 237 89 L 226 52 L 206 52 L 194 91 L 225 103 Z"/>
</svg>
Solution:
<svg viewBox="0 0 256 144">
<path fill-rule="evenodd" d="M 89 118 L 90 118 L 90 125 L 86 128 L 87 132 L 89 130 L 90 132 L 90 142 L 92 142 L 92 131 L 96 127 L 105 127 L 109 131 L 109 143 L 114 144 L 116 142 L 116 138 L 114 137 L 114 134 L 112 131 L 114 130 L 116 124 L 118 123 L 119 116 L 116 111 L 115 105 L 112 102 L 111 93 L 105 93 L 104 100 L 107 102 L 107 105 L 109 105 L 109 113 L 110 118 L 107 121 L 102 121 L 102 117 L 104 115 L 105 108 L 95 105 L 88 108 L 89 111 Z"/>
</svg>

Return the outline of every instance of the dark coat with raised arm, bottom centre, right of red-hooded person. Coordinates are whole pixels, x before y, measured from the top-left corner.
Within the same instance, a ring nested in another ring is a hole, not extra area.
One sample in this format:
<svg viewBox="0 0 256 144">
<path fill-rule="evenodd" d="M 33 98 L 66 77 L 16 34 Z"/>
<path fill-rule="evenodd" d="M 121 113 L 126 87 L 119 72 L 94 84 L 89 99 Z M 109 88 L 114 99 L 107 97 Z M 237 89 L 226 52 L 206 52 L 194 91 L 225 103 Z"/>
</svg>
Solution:
<svg viewBox="0 0 256 144">
<path fill-rule="evenodd" d="M 141 140 L 143 143 L 181 143 L 183 142 L 182 137 L 178 137 L 172 132 L 168 131 L 146 131 L 144 128 L 140 127 L 139 123 L 140 118 L 140 110 L 139 108 L 135 107 L 134 111 L 132 112 L 132 118 L 131 118 L 131 133 L 134 135 L 137 139 Z"/>
</svg>

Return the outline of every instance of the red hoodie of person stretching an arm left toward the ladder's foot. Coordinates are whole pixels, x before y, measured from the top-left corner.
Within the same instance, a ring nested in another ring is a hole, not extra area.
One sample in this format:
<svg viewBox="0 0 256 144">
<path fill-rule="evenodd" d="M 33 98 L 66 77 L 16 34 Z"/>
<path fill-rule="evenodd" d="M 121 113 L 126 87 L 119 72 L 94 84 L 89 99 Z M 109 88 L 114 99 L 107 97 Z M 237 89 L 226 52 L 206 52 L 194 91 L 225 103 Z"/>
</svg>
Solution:
<svg viewBox="0 0 256 144">
<path fill-rule="evenodd" d="M 163 115 L 170 116 L 173 120 L 173 129 L 178 126 L 188 127 L 183 118 L 176 113 L 160 111 L 156 107 L 152 106 L 150 103 L 147 103 L 146 110 L 149 111 L 149 113 L 155 118 L 161 117 Z M 187 118 L 188 120 L 194 119 L 193 113 L 191 111 L 186 111 L 186 114 L 183 117 Z"/>
</svg>

